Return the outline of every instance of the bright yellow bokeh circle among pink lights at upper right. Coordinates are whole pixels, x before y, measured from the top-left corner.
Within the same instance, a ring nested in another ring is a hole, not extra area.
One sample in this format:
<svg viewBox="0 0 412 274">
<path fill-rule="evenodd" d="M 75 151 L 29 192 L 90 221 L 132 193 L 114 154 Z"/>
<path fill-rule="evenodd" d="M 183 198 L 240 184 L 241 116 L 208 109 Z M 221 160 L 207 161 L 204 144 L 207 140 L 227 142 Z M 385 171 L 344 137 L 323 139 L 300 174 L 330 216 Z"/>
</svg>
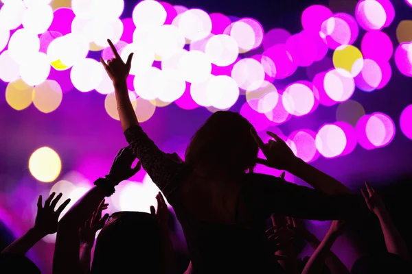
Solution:
<svg viewBox="0 0 412 274">
<path fill-rule="evenodd" d="M 363 66 L 361 51 L 352 45 L 338 47 L 333 53 L 333 64 L 336 69 L 344 69 L 351 73 L 352 77 L 358 75 Z"/>
</svg>

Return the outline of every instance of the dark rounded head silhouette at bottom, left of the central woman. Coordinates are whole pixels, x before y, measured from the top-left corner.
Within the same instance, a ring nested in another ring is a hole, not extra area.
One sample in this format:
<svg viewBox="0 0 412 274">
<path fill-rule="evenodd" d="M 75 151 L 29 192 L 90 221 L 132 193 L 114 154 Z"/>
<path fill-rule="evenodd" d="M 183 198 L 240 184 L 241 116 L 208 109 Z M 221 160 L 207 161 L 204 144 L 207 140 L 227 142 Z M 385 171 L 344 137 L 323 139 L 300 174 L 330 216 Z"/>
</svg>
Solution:
<svg viewBox="0 0 412 274">
<path fill-rule="evenodd" d="M 91 273 L 164 273 L 163 240 L 155 216 L 117 212 L 96 240 Z"/>
</svg>

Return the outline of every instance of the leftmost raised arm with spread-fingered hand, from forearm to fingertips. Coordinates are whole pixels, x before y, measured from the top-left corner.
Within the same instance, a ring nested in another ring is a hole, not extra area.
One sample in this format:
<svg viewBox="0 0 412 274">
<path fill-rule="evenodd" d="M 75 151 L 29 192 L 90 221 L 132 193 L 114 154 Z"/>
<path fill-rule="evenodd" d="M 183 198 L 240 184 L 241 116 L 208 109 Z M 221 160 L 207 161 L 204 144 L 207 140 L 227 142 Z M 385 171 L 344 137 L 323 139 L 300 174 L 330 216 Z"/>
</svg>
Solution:
<svg viewBox="0 0 412 274">
<path fill-rule="evenodd" d="M 67 199 L 58 209 L 55 211 L 56 204 L 62 197 L 62 193 L 57 195 L 55 199 L 52 193 L 45 201 L 43 206 L 42 196 L 38 197 L 37 201 L 37 215 L 34 227 L 29 229 L 23 236 L 14 240 L 8 247 L 1 251 L 2 254 L 19 254 L 25 255 L 29 249 L 31 249 L 36 243 L 48 234 L 54 234 L 57 231 L 58 217 L 62 211 L 69 204 L 70 199 Z"/>
</svg>

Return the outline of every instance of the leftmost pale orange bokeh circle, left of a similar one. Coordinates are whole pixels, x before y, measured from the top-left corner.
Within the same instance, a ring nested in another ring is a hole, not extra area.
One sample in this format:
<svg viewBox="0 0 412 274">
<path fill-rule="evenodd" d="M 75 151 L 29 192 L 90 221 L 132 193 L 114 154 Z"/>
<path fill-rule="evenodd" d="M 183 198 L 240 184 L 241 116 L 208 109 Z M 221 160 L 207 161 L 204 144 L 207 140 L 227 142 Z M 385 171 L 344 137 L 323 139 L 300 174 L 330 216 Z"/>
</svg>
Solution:
<svg viewBox="0 0 412 274">
<path fill-rule="evenodd" d="M 33 87 L 28 86 L 22 79 L 10 82 L 5 88 L 5 101 L 14 110 L 24 110 L 32 104 Z"/>
</svg>

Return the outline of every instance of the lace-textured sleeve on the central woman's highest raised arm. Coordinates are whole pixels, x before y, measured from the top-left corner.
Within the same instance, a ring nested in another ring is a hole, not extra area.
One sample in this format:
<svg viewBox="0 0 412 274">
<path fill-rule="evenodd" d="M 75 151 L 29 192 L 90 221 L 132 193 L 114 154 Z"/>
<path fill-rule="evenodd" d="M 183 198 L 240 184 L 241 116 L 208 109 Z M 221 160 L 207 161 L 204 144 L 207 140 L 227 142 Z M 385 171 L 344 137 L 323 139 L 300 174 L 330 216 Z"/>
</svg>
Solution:
<svg viewBox="0 0 412 274">
<path fill-rule="evenodd" d="M 139 125 L 126 129 L 124 136 L 135 152 L 136 158 L 141 162 L 141 166 L 163 195 L 168 197 L 176 189 L 185 164 L 174 162 L 166 157 Z"/>
</svg>

